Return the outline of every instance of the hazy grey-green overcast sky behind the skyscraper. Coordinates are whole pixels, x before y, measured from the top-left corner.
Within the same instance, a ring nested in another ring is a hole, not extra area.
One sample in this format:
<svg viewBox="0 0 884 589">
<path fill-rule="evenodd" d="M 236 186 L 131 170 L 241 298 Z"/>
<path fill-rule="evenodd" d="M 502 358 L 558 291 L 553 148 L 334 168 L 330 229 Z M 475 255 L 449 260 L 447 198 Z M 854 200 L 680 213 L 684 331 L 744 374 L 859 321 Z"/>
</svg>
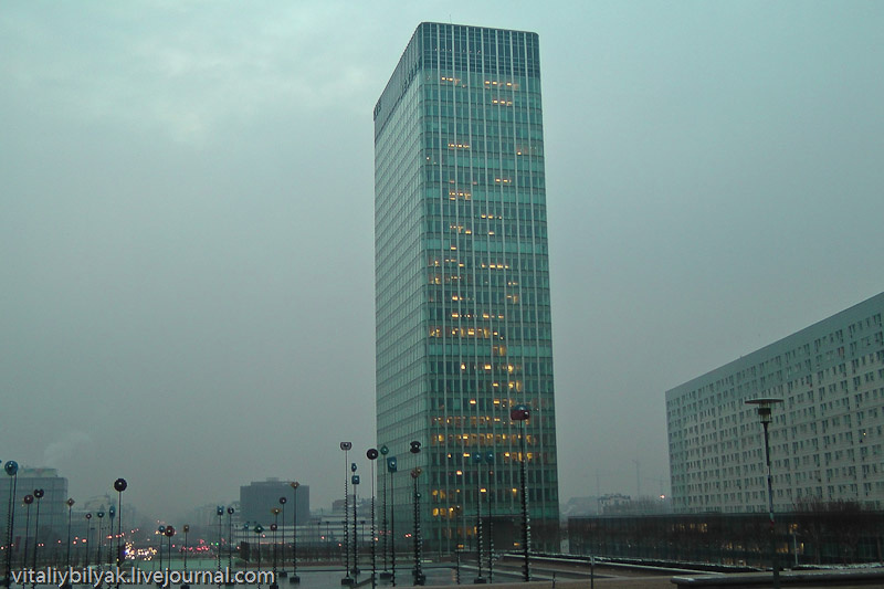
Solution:
<svg viewBox="0 0 884 589">
<path fill-rule="evenodd" d="M 367 473 L 371 111 L 453 21 L 540 36 L 562 503 L 667 492 L 666 389 L 884 290 L 884 4 L 539 4 L 4 2 L 0 459 Z"/>
</svg>

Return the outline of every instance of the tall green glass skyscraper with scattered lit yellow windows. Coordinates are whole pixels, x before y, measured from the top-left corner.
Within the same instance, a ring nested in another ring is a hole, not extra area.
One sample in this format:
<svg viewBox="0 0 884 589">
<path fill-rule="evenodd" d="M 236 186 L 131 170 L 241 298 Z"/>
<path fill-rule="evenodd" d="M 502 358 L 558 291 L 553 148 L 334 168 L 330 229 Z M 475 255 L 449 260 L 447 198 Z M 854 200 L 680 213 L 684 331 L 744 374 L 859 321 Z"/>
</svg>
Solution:
<svg viewBox="0 0 884 589">
<path fill-rule="evenodd" d="M 409 474 L 421 469 L 428 547 L 474 547 L 481 509 L 495 548 L 513 549 L 525 460 L 534 541 L 551 543 L 544 532 L 559 511 L 537 34 L 418 27 L 375 107 L 375 267 L 378 443 L 398 459 L 396 536 L 412 532 Z M 517 404 L 530 410 L 524 425 L 511 420 Z"/>
</svg>

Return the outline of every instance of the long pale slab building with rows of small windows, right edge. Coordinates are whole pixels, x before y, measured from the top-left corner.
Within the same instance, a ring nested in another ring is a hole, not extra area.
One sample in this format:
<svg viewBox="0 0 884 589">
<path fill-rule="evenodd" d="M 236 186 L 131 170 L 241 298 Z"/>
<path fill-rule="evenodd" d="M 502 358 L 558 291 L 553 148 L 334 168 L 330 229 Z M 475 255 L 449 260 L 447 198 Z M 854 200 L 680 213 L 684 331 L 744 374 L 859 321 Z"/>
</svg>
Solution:
<svg viewBox="0 0 884 589">
<path fill-rule="evenodd" d="M 666 392 L 676 513 L 765 512 L 761 423 L 775 509 L 802 502 L 884 508 L 884 293 Z"/>
</svg>

